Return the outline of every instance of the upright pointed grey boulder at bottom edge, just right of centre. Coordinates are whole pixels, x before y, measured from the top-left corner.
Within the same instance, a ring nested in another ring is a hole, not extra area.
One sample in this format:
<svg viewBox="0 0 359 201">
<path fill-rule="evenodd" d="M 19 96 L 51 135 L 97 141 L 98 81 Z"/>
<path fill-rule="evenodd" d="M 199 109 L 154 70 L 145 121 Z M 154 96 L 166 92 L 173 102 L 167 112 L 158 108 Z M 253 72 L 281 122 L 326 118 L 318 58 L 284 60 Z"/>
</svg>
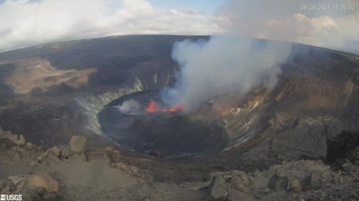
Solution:
<svg viewBox="0 0 359 201">
<path fill-rule="evenodd" d="M 225 200 L 227 198 L 228 191 L 224 184 L 225 179 L 221 175 L 215 175 L 212 178 L 211 184 L 209 184 L 210 201 Z"/>
</svg>

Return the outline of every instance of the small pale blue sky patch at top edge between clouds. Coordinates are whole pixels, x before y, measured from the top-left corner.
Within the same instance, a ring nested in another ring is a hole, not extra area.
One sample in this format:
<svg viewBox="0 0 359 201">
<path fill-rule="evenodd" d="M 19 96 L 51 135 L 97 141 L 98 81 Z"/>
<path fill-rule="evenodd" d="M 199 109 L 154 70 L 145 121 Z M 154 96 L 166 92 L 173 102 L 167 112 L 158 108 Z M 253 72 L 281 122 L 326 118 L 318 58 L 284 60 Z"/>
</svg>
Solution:
<svg viewBox="0 0 359 201">
<path fill-rule="evenodd" d="M 194 8 L 207 14 L 214 14 L 223 0 L 150 0 L 153 6 L 164 8 Z"/>
</svg>

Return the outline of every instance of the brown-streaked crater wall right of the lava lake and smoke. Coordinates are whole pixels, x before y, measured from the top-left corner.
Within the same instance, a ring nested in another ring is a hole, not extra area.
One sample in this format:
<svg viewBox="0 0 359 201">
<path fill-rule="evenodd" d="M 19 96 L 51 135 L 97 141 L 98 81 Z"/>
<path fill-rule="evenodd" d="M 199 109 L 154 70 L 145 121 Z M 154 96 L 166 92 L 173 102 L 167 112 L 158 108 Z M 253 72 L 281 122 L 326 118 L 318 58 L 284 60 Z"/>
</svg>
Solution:
<svg viewBox="0 0 359 201">
<path fill-rule="evenodd" d="M 222 109 L 232 138 L 227 150 L 246 152 L 244 159 L 325 158 L 328 138 L 359 129 L 358 56 L 294 49 L 276 88 L 257 88 Z"/>
</svg>

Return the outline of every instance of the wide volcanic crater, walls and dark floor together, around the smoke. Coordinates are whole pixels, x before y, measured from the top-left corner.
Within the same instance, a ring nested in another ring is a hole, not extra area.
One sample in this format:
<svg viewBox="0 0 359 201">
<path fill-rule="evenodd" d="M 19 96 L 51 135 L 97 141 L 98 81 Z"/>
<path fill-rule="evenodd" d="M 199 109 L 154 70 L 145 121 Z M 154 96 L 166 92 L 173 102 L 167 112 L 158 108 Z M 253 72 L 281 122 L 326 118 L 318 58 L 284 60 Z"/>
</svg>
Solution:
<svg viewBox="0 0 359 201">
<path fill-rule="evenodd" d="M 359 129 L 359 57 L 299 44 L 291 44 L 293 54 L 273 88 L 257 86 L 219 108 L 162 112 L 159 90 L 173 86 L 179 70 L 173 44 L 186 39 L 209 37 L 127 35 L 3 52 L 1 129 L 38 145 L 67 144 L 76 134 L 86 136 L 89 147 L 116 142 L 136 151 L 124 148 L 125 155 L 200 154 L 191 163 L 236 168 L 246 161 L 324 158 L 328 138 Z M 19 90 L 26 72 L 36 77 Z M 74 76 L 63 79 L 64 73 Z M 118 106 L 130 100 L 139 111 L 121 113 Z M 158 112 L 146 110 L 150 102 Z"/>
</svg>

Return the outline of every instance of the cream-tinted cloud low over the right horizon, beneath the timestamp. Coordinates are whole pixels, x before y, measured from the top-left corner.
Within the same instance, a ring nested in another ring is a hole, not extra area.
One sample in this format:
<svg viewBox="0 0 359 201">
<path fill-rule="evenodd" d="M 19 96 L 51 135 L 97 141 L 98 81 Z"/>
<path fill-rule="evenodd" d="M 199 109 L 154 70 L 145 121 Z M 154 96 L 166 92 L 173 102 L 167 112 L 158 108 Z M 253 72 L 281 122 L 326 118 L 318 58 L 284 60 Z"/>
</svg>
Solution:
<svg viewBox="0 0 359 201">
<path fill-rule="evenodd" d="M 319 47 L 329 47 L 359 54 L 359 47 L 349 49 L 346 44 L 359 41 L 359 13 L 344 17 L 307 17 L 296 13 L 274 26 L 262 27 L 263 38 L 287 40 Z"/>
</svg>

